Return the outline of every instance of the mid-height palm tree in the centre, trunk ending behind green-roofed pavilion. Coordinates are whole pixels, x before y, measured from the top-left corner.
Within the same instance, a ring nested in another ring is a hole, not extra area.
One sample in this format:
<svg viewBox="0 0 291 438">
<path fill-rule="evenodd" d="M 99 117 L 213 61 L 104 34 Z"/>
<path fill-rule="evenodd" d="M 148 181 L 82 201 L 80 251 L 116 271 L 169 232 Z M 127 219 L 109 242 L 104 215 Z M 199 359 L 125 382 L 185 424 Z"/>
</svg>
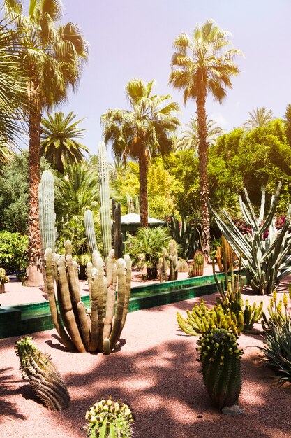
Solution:
<svg viewBox="0 0 291 438">
<path fill-rule="evenodd" d="M 105 143 L 111 141 L 114 155 L 129 155 L 139 164 L 140 224 L 148 226 L 147 167 L 151 155 L 165 155 L 172 148 L 170 134 L 179 120 L 172 115 L 179 109 L 170 96 L 151 95 L 154 80 L 145 83 L 131 79 L 126 85 L 126 97 L 131 110 L 108 110 L 101 117 Z"/>
</svg>

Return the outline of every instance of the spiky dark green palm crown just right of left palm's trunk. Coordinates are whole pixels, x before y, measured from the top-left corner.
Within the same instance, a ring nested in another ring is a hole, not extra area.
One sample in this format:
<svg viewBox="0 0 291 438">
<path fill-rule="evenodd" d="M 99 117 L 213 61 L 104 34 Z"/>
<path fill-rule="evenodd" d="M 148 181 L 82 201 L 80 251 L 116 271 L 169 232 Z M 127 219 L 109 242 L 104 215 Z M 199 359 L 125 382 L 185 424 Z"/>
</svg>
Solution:
<svg viewBox="0 0 291 438">
<path fill-rule="evenodd" d="M 47 114 L 47 118 L 41 120 L 40 155 L 44 155 L 52 167 L 64 174 L 66 163 L 80 163 L 84 160 L 84 152 L 89 152 L 76 139 L 82 138 L 85 129 L 77 127 L 82 120 L 73 120 L 77 117 L 71 111 L 64 113 Z"/>
</svg>

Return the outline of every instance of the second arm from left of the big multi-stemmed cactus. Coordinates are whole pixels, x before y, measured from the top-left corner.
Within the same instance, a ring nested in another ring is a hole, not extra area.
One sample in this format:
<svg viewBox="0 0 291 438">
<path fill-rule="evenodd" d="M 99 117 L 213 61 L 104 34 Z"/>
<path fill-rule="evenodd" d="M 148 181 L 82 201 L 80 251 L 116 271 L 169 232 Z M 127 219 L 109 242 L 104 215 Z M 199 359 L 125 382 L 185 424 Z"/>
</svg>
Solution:
<svg viewBox="0 0 291 438">
<path fill-rule="evenodd" d="M 64 308 L 64 323 L 68 334 L 75 344 L 78 351 L 84 353 L 86 348 L 80 337 L 80 333 L 75 320 L 75 315 L 72 308 L 72 302 L 70 300 L 70 290 L 68 288 L 68 279 L 66 274 L 65 257 L 61 255 L 59 257 L 59 285 L 61 291 L 61 302 Z"/>
</svg>

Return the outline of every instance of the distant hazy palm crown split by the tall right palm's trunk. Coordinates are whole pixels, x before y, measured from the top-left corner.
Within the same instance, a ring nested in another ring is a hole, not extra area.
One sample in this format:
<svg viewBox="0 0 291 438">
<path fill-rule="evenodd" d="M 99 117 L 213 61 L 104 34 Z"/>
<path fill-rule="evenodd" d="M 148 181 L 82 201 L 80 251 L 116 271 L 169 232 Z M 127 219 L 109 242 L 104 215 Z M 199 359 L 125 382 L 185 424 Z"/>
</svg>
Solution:
<svg viewBox="0 0 291 438">
<path fill-rule="evenodd" d="M 216 122 L 214 122 L 214 120 L 207 120 L 207 143 L 209 144 L 209 146 L 214 145 L 216 139 L 219 136 L 223 135 L 223 129 L 221 129 L 221 127 L 219 126 L 214 125 L 216 125 Z M 189 129 L 184 129 L 184 131 L 181 132 L 181 136 L 177 140 L 175 146 L 175 152 L 178 152 L 178 150 L 193 149 L 195 153 L 197 153 L 199 146 L 197 120 L 191 117 L 190 122 L 186 123 L 185 126 Z"/>
</svg>

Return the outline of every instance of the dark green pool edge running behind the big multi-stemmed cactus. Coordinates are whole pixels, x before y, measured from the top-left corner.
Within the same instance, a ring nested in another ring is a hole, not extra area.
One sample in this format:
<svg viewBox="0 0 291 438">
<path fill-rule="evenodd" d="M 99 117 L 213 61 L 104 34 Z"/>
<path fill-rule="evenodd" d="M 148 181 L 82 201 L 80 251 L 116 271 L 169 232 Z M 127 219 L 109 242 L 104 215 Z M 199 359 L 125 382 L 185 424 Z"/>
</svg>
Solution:
<svg viewBox="0 0 291 438">
<path fill-rule="evenodd" d="M 195 283 L 199 283 L 202 278 L 207 284 L 195 285 Z M 212 282 L 210 283 L 210 281 Z M 134 312 L 141 309 L 150 309 L 164 304 L 183 301 L 185 299 L 209 295 L 217 290 L 216 284 L 213 281 L 213 276 L 171 281 L 167 283 L 167 286 L 169 286 L 169 288 L 175 286 L 176 289 L 166 292 L 158 292 L 158 289 L 161 288 L 162 285 L 165 287 L 165 283 L 161 283 L 161 285 L 160 283 L 156 283 L 154 285 L 132 288 L 132 291 L 137 293 L 138 291 L 142 292 L 142 290 L 153 290 L 153 292 L 147 297 L 131 297 L 128 311 Z M 85 306 L 89 306 L 88 295 L 82 296 L 82 301 Z M 40 316 L 33 316 L 33 318 L 24 316 L 27 311 L 41 312 L 42 310 L 45 314 Z M 0 306 L 0 339 L 41 332 L 52 328 L 54 328 L 54 325 L 52 323 L 52 316 L 50 315 L 48 302 L 22 304 L 13 307 Z"/>
</svg>

